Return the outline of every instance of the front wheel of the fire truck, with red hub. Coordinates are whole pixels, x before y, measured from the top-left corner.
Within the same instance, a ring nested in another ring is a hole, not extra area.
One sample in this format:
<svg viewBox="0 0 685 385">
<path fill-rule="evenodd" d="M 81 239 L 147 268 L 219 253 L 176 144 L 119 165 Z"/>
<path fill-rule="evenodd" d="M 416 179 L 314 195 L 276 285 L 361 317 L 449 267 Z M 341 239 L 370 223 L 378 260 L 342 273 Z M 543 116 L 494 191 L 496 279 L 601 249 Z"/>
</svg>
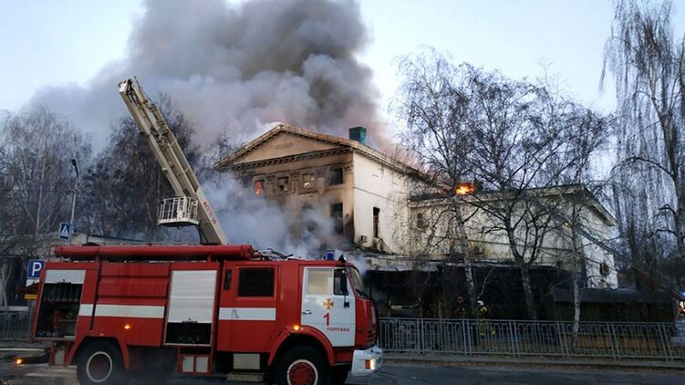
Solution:
<svg viewBox="0 0 685 385">
<path fill-rule="evenodd" d="M 320 351 L 296 347 L 287 351 L 275 368 L 278 385 L 329 385 L 328 363 Z"/>
</svg>

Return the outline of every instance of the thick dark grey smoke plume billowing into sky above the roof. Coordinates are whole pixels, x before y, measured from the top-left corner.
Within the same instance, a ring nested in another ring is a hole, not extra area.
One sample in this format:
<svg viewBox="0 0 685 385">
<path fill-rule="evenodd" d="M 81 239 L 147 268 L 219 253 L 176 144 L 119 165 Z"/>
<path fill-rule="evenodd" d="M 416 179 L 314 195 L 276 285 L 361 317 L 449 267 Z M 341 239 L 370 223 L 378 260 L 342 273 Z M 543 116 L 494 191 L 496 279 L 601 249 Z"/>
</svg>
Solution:
<svg viewBox="0 0 685 385">
<path fill-rule="evenodd" d="M 137 76 L 150 96 L 168 94 L 198 127 L 202 144 L 218 132 L 252 137 L 280 121 L 346 136 L 369 127 L 385 142 L 371 71 L 356 56 L 368 42 L 352 0 L 146 0 L 128 54 L 87 87 L 46 88 L 42 102 L 94 132 L 128 116 L 117 83 Z M 84 55 L 87 53 L 84 52 Z"/>
</svg>

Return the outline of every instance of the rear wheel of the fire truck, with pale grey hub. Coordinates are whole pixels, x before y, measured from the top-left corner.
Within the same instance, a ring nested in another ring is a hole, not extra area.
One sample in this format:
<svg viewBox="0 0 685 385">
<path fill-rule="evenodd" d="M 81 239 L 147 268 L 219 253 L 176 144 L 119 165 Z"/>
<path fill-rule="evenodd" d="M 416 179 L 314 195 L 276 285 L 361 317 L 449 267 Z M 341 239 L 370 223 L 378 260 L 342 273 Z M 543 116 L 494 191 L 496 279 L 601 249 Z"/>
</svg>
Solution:
<svg viewBox="0 0 685 385">
<path fill-rule="evenodd" d="M 119 349 L 106 342 L 93 342 L 79 354 L 76 366 L 81 385 L 124 383 L 124 365 Z"/>
</svg>

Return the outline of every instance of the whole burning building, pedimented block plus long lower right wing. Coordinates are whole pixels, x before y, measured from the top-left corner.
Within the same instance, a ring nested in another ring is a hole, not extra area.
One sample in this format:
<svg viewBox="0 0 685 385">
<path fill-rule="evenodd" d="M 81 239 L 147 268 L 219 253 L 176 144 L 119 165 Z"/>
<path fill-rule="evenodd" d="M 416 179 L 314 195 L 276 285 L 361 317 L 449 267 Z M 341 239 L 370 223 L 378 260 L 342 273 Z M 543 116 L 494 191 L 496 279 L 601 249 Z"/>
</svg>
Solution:
<svg viewBox="0 0 685 385">
<path fill-rule="evenodd" d="M 367 146 L 364 138 L 363 128 L 350 129 L 348 138 L 339 138 L 280 124 L 214 167 L 219 172 L 233 172 L 244 192 L 255 199 L 268 199 L 294 213 L 317 210 L 329 215 L 334 232 L 347 246 L 376 255 L 371 265 L 406 270 L 417 265 L 412 261 L 444 259 L 454 237 L 448 230 L 449 216 L 441 212 L 449 210 L 452 201 L 417 193 L 422 183 L 420 172 Z M 582 253 L 579 268 L 587 286 L 618 286 L 612 255 L 597 246 L 597 240 L 606 240 L 614 225 L 607 210 L 585 188 L 535 194 L 549 202 L 579 203 L 583 207 L 579 217 L 593 234 L 591 239 L 582 234 L 574 237 L 574 248 L 564 226 L 550 229 L 539 245 L 535 264 L 573 270 L 575 250 Z M 497 196 L 488 199 L 501 199 Z M 513 263 L 507 234 L 492 230 L 496 227 L 493 218 L 467 200 L 461 204 L 469 218 L 470 259 Z M 486 231 L 488 228 L 491 230 Z M 515 242 L 529 248 L 526 234 L 520 234 Z M 578 271 L 578 266 L 574 268 Z"/>
</svg>

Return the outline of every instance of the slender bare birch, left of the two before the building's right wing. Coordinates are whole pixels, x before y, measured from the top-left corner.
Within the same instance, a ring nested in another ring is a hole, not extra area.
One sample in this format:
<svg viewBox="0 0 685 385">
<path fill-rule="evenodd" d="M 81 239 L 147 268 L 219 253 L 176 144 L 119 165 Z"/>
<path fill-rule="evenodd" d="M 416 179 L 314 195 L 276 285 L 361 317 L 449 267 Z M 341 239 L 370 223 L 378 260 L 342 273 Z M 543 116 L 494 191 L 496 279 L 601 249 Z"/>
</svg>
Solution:
<svg viewBox="0 0 685 385">
<path fill-rule="evenodd" d="M 404 122 L 400 142 L 407 156 L 420 168 L 423 180 L 413 186 L 413 193 L 437 192 L 445 203 L 442 205 L 444 209 L 435 213 L 437 221 L 431 222 L 447 224 L 447 232 L 444 235 L 431 233 L 426 246 L 431 248 L 431 241 L 435 238 L 451 242 L 449 257 L 442 261 L 443 294 L 455 291 L 453 281 L 456 278 L 447 274 L 448 265 L 454 264 L 460 256 L 463 258 L 470 313 L 474 315 L 476 297 L 468 238 L 464 230 L 465 218 L 462 204 L 454 197 L 454 191 L 466 177 L 469 153 L 464 145 L 468 142 L 468 109 L 465 109 L 466 104 L 460 94 L 462 77 L 467 72 L 454 68 L 447 58 L 431 49 L 405 58 L 400 64 L 400 71 L 404 77 L 396 107 Z M 435 230 L 432 225 L 431 228 Z"/>
</svg>

